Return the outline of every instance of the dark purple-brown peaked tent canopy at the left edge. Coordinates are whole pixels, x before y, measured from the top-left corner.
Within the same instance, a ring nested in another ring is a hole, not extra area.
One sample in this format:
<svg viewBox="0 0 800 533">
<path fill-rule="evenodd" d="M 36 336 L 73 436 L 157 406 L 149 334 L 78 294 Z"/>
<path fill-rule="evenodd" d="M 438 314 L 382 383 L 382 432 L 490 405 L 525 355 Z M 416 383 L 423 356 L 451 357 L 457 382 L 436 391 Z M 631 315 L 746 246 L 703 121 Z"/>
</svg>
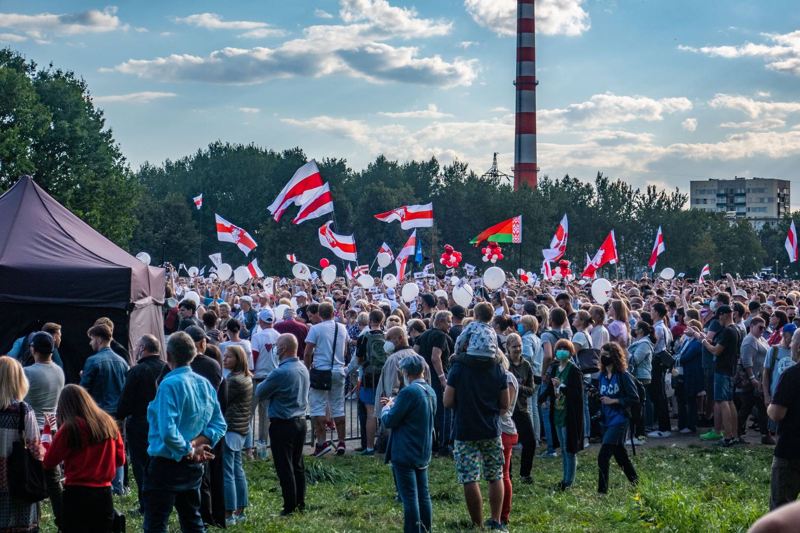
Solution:
<svg viewBox="0 0 800 533">
<path fill-rule="evenodd" d="M 114 245 L 30 176 L 0 197 L 0 353 L 45 322 L 62 324 L 59 352 L 75 381 L 101 316 L 129 350 L 145 333 L 163 342 L 165 283 L 163 268 Z"/>
</svg>

